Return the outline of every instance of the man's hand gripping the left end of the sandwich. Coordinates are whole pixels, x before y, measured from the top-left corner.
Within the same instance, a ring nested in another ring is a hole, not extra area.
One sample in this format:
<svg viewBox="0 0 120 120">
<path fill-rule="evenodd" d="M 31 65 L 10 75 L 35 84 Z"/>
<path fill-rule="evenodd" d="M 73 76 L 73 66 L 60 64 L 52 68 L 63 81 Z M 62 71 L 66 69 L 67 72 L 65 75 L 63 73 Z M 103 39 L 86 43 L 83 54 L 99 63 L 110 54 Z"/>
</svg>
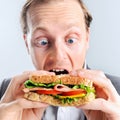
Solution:
<svg viewBox="0 0 120 120">
<path fill-rule="evenodd" d="M 24 72 L 15 76 L 0 101 L 1 120 L 40 120 L 47 104 L 32 102 L 23 98 L 23 83 L 31 72 Z M 32 72 L 33 73 L 33 72 Z M 38 71 L 39 74 L 53 74 L 47 71 Z"/>
</svg>

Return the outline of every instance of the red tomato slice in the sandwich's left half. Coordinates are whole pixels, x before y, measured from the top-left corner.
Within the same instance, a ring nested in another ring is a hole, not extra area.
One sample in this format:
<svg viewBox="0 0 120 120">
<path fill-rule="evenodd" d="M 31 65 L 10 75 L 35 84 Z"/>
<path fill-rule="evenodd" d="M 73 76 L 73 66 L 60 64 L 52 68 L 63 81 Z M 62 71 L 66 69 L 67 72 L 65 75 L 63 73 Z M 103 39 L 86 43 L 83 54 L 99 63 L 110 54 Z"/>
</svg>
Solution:
<svg viewBox="0 0 120 120">
<path fill-rule="evenodd" d="M 56 91 L 54 89 L 43 89 L 43 90 L 37 90 L 36 91 L 38 94 L 46 94 L 46 95 L 57 95 L 61 94 L 60 91 Z"/>
</svg>

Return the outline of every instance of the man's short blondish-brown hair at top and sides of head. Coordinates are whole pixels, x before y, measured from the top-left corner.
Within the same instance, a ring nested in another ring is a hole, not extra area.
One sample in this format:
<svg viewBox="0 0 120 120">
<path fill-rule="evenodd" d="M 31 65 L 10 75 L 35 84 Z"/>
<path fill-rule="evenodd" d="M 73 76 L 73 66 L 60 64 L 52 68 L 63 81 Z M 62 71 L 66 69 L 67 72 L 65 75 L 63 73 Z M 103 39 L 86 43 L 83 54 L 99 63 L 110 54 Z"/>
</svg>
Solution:
<svg viewBox="0 0 120 120">
<path fill-rule="evenodd" d="M 28 11 L 28 9 L 32 5 L 49 3 L 50 1 L 51 0 L 26 0 L 24 6 L 22 8 L 22 11 L 21 11 L 21 27 L 22 27 L 22 31 L 23 31 L 24 34 L 27 34 L 27 32 L 28 32 L 28 25 L 27 25 L 27 11 Z M 80 6 L 81 6 L 81 8 L 83 10 L 83 13 L 84 13 L 86 29 L 88 29 L 90 27 L 91 22 L 92 22 L 92 16 L 89 13 L 89 11 L 86 8 L 83 1 L 82 0 L 78 0 L 78 1 L 80 3 Z"/>
</svg>

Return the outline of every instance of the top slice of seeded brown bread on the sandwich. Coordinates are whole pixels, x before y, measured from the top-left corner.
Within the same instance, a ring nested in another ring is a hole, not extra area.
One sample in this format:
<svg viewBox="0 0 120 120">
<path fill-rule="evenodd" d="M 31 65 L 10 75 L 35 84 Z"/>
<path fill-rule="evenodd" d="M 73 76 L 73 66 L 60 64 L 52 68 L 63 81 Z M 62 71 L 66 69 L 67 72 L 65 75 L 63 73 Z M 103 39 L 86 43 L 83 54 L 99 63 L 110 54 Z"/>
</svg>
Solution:
<svg viewBox="0 0 120 120">
<path fill-rule="evenodd" d="M 53 82 L 61 82 L 66 85 L 79 85 L 84 84 L 86 86 L 92 87 L 92 81 L 82 78 L 80 76 L 71 76 L 69 74 L 65 75 L 40 75 L 40 74 L 32 74 L 29 77 L 30 80 L 36 83 L 53 83 Z"/>
</svg>

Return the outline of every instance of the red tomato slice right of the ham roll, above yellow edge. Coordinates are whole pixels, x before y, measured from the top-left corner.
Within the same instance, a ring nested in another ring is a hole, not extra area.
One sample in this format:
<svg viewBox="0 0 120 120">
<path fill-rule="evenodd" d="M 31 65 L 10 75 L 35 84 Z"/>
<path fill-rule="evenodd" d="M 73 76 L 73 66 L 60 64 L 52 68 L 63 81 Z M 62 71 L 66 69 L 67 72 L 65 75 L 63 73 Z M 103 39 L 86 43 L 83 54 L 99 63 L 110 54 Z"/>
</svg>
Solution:
<svg viewBox="0 0 120 120">
<path fill-rule="evenodd" d="M 62 92 L 62 96 L 72 96 L 72 95 L 78 95 L 78 94 L 86 94 L 87 92 L 83 89 L 74 89 L 70 90 L 68 92 Z"/>
</svg>

